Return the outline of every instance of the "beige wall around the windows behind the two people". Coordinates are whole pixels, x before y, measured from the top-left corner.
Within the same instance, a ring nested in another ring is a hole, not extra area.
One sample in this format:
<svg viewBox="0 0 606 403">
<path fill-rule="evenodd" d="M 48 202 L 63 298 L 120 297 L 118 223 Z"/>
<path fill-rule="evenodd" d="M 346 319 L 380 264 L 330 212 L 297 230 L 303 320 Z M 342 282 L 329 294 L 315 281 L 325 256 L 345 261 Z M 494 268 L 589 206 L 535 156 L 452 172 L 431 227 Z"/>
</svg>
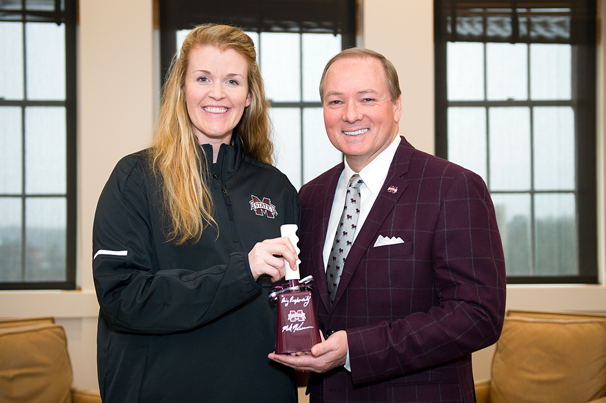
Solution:
<svg viewBox="0 0 606 403">
<path fill-rule="evenodd" d="M 0 317 L 55 316 L 68 335 L 74 384 L 96 388 L 98 304 L 90 270 L 91 232 L 99 193 L 118 159 L 149 138 L 157 88 L 153 80 L 151 0 L 79 0 L 78 50 L 78 284 L 70 292 L 0 292 Z M 604 19 L 604 18 L 602 18 Z M 365 0 L 365 47 L 388 57 L 402 85 L 401 133 L 434 150 L 433 2 Z M 603 44 L 604 41 L 602 40 Z M 604 54 L 600 53 L 599 65 Z M 603 116 L 604 68 L 599 73 Z M 599 120 L 599 246 L 604 279 L 604 122 Z M 511 309 L 606 310 L 606 287 L 510 286 Z M 489 376 L 492 350 L 474 355 L 476 379 Z"/>
</svg>

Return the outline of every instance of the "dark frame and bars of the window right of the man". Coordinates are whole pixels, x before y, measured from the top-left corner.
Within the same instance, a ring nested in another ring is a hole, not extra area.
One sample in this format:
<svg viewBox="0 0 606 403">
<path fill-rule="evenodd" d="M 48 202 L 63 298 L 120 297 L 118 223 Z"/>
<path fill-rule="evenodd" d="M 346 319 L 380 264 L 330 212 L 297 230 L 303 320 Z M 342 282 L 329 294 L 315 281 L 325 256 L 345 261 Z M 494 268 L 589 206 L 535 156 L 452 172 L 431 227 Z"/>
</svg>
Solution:
<svg viewBox="0 0 606 403">
<path fill-rule="evenodd" d="M 447 4 L 450 2 L 450 5 Z M 473 1 L 472 1 L 473 2 Z M 476 3 L 484 4 L 488 7 L 491 1 L 475 1 Z M 544 5 L 548 1 L 535 1 L 534 3 Z M 575 1 L 568 1 L 573 4 Z M 468 2 L 470 3 L 470 2 Z M 500 1 L 500 4 L 504 2 Z M 513 4 L 514 2 L 508 2 Z M 585 1 L 587 10 L 593 10 L 593 18 L 596 17 L 596 3 L 594 0 Z M 574 128 L 575 128 L 575 168 L 576 168 L 576 224 L 578 227 L 578 268 L 579 274 L 572 276 L 507 276 L 508 284 L 598 284 L 598 225 L 597 225 L 597 177 L 596 177 L 596 149 L 597 149 L 597 124 L 596 124 L 596 24 L 587 24 L 585 32 L 587 41 L 579 41 L 571 43 L 572 47 L 572 94 L 570 102 L 550 101 L 550 100 L 503 100 L 503 101 L 449 101 L 447 97 L 447 42 L 448 33 L 446 27 L 447 10 L 450 8 L 452 12 L 456 12 L 457 0 L 435 0 L 435 141 L 436 141 L 436 156 L 448 159 L 448 108 L 452 106 L 481 106 L 488 108 L 494 106 L 571 106 L 574 110 Z M 535 5 L 537 6 L 537 5 Z M 479 7 L 479 6 L 478 6 Z M 523 7 L 518 2 L 518 7 Z M 574 14 L 574 13 L 573 13 Z M 578 18 L 574 15 L 573 18 Z M 486 20 L 484 19 L 484 24 Z M 515 24 L 512 24 L 515 25 Z M 514 34 L 516 34 L 514 29 Z M 573 32 L 578 34 L 578 32 Z M 456 33 L 450 33 L 454 36 Z M 593 39 L 593 42 L 591 41 Z M 550 43 L 545 41 L 531 41 L 527 38 L 526 41 L 512 41 L 511 38 L 503 40 L 494 40 L 484 38 L 483 41 L 468 41 L 476 43 L 502 42 L 502 43 Z M 484 52 L 484 60 L 486 53 Z M 530 61 L 528 61 L 530 62 Z M 579 71 L 584 73 L 580 74 Z M 486 75 L 484 69 L 484 75 Z M 484 86 L 486 86 L 484 80 Z M 530 80 L 528 82 L 530 85 Z M 533 123 L 532 116 L 530 120 L 531 127 L 531 142 L 533 139 Z M 488 119 L 487 119 L 488 125 Z M 490 169 L 490 168 L 488 168 Z M 532 165 L 531 165 L 531 176 Z M 501 192 L 491 191 L 491 194 Z M 514 193 L 514 192 L 502 192 Z M 534 188 L 530 192 L 524 191 L 525 194 L 533 195 L 536 193 L 545 193 L 544 191 L 535 191 Z M 534 262 L 536 261 L 536 249 L 534 247 L 536 231 L 534 229 L 534 209 L 531 208 L 531 256 Z"/>
</svg>

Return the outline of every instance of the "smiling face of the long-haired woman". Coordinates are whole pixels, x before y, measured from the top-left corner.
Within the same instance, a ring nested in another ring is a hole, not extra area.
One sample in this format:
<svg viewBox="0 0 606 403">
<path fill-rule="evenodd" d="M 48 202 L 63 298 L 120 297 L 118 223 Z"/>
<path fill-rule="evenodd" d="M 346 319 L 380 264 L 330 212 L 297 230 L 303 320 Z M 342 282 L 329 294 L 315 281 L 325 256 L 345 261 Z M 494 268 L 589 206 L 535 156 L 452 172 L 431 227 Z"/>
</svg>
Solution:
<svg viewBox="0 0 606 403">
<path fill-rule="evenodd" d="M 185 75 L 187 113 L 200 144 L 228 144 L 250 105 L 248 66 L 233 49 L 195 47 Z"/>
</svg>

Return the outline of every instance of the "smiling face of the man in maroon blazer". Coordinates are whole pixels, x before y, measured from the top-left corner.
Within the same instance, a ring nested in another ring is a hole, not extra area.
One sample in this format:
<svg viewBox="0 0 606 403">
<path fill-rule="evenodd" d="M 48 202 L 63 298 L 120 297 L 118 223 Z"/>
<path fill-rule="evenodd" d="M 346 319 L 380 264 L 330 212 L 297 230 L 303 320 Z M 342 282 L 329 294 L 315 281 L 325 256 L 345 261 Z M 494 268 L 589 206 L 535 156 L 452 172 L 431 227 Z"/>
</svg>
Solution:
<svg viewBox="0 0 606 403">
<path fill-rule="evenodd" d="M 401 99 L 391 101 L 385 70 L 374 57 L 334 62 L 324 78 L 323 106 L 328 139 L 356 172 L 398 134 Z"/>
</svg>

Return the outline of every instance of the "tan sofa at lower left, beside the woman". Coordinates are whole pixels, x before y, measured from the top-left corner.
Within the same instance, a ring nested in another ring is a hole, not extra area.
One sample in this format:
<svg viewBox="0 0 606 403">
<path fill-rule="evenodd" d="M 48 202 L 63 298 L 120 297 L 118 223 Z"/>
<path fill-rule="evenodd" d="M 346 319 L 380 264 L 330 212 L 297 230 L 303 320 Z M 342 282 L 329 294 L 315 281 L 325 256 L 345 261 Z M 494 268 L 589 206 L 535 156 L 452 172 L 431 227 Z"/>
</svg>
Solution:
<svg viewBox="0 0 606 403">
<path fill-rule="evenodd" d="M 101 396 L 72 388 L 67 339 L 53 318 L 0 319 L 0 402 L 101 403 Z"/>
</svg>

